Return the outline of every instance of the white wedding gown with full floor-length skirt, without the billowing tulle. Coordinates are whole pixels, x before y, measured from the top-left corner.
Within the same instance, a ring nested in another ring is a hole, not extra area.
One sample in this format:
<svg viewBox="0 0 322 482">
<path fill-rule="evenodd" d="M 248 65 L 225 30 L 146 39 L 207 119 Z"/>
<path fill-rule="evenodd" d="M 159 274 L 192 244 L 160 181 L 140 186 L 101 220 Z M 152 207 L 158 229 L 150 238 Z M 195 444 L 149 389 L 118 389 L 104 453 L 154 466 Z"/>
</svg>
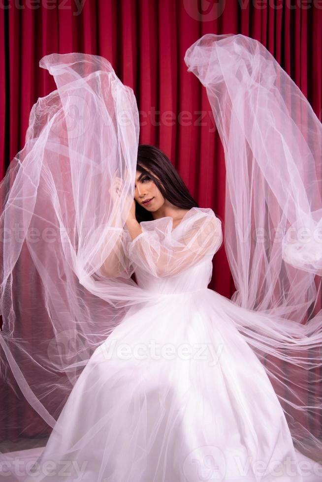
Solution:
<svg viewBox="0 0 322 482">
<path fill-rule="evenodd" d="M 173 247 L 194 219 L 215 221 L 216 230 L 192 266 L 157 278 L 139 264 L 140 238 L 156 241 L 159 227 Z M 312 460 L 311 478 L 296 473 L 282 407 L 233 322 L 251 314 L 207 288 L 220 220 L 192 208 L 172 231 L 169 217 L 141 224 L 128 255 L 155 299 L 132 307 L 96 349 L 23 480 L 318 481 L 322 466 Z"/>
</svg>

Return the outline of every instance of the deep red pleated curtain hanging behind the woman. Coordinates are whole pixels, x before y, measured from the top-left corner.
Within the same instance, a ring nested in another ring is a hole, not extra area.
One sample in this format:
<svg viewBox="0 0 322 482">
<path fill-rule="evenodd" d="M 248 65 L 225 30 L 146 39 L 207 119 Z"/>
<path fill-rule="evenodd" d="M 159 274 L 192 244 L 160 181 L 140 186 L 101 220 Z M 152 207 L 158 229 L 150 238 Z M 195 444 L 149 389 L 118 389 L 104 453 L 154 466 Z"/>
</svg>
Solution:
<svg viewBox="0 0 322 482">
<path fill-rule="evenodd" d="M 225 234 L 223 148 L 205 89 L 184 62 L 186 49 L 211 32 L 259 40 L 321 119 L 322 0 L 0 0 L 1 176 L 24 145 L 32 104 L 55 89 L 38 66 L 41 57 L 101 55 L 134 91 L 140 143 L 169 156 L 199 206 L 222 219 Z M 209 287 L 229 298 L 235 290 L 224 246 Z M 1 403 L 15 403 L 1 396 Z"/>
</svg>

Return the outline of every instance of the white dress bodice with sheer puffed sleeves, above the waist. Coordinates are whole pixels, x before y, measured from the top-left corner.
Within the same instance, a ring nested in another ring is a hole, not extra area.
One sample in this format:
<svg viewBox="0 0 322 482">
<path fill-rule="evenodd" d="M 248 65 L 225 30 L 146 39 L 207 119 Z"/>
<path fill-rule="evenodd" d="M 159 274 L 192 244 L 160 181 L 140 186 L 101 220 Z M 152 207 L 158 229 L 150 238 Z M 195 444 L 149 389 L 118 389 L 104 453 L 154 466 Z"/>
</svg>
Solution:
<svg viewBox="0 0 322 482">
<path fill-rule="evenodd" d="M 193 207 L 174 229 L 171 216 L 140 225 L 142 233 L 128 238 L 127 254 L 141 288 L 158 294 L 207 289 L 212 258 L 223 241 L 214 211 Z"/>
</svg>

